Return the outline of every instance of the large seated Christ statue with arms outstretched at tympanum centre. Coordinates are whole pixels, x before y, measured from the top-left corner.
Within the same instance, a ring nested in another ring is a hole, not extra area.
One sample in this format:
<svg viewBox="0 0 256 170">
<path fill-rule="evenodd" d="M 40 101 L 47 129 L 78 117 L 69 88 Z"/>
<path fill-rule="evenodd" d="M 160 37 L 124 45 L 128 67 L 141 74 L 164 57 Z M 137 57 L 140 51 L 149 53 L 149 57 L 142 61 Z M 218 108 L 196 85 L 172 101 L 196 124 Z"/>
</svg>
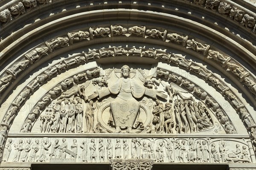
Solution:
<svg viewBox="0 0 256 170">
<path fill-rule="evenodd" d="M 99 97 L 101 99 L 109 94 L 117 95 L 113 101 L 110 102 L 111 113 L 116 125 L 116 131 L 114 133 L 120 133 L 121 129 L 126 129 L 127 133 L 131 133 L 132 126 L 140 111 L 140 102 L 136 99 L 141 98 L 144 94 L 150 96 L 153 99 L 157 99 L 157 96 L 167 98 L 164 91 L 157 91 L 148 89 L 143 85 L 140 85 L 136 80 L 131 79 L 130 68 L 128 65 L 124 65 L 121 68 L 122 77 L 119 78 L 112 86 L 104 88 L 102 90 L 94 91 L 88 99 Z"/>
</svg>

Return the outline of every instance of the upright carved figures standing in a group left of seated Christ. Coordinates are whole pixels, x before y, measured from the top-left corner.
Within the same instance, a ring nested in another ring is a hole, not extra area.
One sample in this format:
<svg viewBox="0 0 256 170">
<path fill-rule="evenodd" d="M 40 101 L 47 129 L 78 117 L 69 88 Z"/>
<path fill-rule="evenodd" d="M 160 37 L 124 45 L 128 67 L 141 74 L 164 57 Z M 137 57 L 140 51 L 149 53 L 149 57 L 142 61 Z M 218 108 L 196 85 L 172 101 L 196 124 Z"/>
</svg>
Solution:
<svg viewBox="0 0 256 170">
<path fill-rule="evenodd" d="M 87 103 L 84 113 L 84 105 L 82 99 L 76 101 L 74 99 L 61 99 L 52 105 L 52 108 L 47 109 L 44 114 L 40 115 L 40 131 L 47 132 L 62 132 L 62 133 L 82 133 L 83 122 L 87 125 L 86 133 L 93 133 L 94 110 L 93 101 Z M 86 121 L 84 121 L 84 117 Z"/>
</svg>

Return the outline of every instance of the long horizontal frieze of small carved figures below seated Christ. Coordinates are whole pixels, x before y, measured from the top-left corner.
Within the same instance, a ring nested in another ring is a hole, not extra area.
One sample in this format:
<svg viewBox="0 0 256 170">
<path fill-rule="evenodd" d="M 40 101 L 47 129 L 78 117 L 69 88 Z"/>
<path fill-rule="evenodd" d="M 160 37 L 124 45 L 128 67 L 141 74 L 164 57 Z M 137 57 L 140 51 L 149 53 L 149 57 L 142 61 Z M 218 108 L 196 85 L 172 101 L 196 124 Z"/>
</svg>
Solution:
<svg viewBox="0 0 256 170">
<path fill-rule="evenodd" d="M 65 138 L 61 142 L 57 138 L 46 137 L 16 140 L 17 143 L 9 138 L 5 145 L 3 161 L 44 162 L 51 159 L 75 159 L 82 162 L 108 162 L 110 159 L 131 158 L 151 159 L 157 162 L 251 162 L 248 146 L 240 146 L 239 142 L 236 143 L 236 147 L 227 147 L 230 146 L 227 144 L 228 141 L 209 142 L 193 138 L 173 141 L 91 138 L 80 139 L 80 144 L 79 139 L 67 142 Z M 10 155 L 13 155 L 13 160 L 9 159 Z"/>
</svg>

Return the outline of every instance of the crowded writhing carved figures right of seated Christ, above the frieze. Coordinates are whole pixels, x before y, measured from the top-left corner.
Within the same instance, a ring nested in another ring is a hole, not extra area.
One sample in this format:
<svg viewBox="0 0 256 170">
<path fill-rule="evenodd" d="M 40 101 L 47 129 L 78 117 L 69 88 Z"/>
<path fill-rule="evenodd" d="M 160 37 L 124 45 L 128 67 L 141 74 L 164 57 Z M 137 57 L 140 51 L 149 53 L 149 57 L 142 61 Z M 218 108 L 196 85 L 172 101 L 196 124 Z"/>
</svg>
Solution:
<svg viewBox="0 0 256 170">
<path fill-rule="evenodd" d="M 189 99 L 176 99 L 165 106 L 157 99 L 153 115 L 156 133 L 193 133 L 213 126 L 206 106 Z"/>
</svg>

